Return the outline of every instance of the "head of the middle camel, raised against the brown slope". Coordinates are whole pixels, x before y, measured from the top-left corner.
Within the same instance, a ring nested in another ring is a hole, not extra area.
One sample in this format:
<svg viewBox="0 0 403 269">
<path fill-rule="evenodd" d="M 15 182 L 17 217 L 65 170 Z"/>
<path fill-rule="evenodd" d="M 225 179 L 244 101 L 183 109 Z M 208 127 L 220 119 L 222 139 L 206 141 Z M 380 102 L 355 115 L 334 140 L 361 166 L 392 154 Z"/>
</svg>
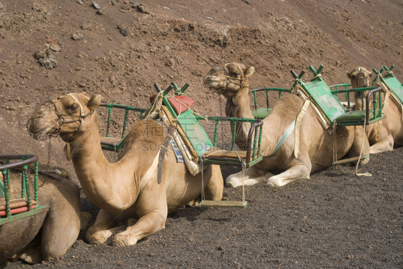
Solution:
<svg viewBox="0 0 403 269">
<path fill-rule="evenodd" d="M 240 63 L 227 63 L 224 66 L 213 67 L 204 78 L 205 84 L 226 97 L 235 96 L 239 89 L 248 87 L 248 77 L 250 77 L 255 68 Z"/>
</svg>

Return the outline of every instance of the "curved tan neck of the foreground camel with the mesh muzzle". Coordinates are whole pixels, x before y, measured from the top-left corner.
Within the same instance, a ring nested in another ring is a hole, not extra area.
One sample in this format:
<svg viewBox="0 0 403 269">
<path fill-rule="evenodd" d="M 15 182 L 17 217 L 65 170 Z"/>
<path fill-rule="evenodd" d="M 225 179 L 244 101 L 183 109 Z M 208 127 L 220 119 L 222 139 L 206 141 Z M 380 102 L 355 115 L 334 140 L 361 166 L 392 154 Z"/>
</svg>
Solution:
<svg viewBox="0 0 403 269">
<path fill-rule="evenodd" d="M 91 122 L 85 123 L 88 129 L 71 141 L 73 165 L 88 199 L 101 209 L 121 211 L 136 199 L 133 195 L 133 188 L 136 191 L 133 166 L 128 166 L 123 160 L 109 163 L 105 158 L 101 149 L 97 117 L 94 113 L 90 118 Z M 123 200 L 130 196 L 133 201 Z"/>
</svg>

